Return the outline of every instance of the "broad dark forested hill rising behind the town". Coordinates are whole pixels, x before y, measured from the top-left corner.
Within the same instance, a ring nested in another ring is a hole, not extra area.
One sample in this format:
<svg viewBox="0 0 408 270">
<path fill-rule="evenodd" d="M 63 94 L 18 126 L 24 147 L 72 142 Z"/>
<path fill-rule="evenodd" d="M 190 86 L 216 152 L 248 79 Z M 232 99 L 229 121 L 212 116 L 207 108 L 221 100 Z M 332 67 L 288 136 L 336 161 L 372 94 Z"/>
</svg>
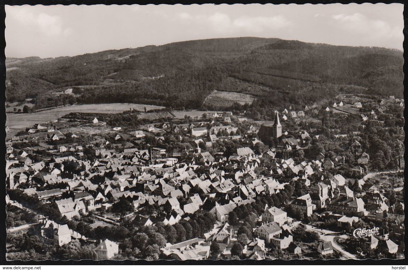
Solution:
<svg viewBox="0 0 408 270">
<path fill-rule="evenodd" d="M 277 38 L 176 42 L 74 57 L 8 58 L 9 102 L 73 88 L 71 102 L 202 106 L 213 90 L 308 104 L 338 91 L 403 96 L 403 54 L 377 47 L 333 46 Z M 357 90 L 356 90 L 357 89 Z M 72 100 L 73 99 L 73 100 Z"/>
</svg>

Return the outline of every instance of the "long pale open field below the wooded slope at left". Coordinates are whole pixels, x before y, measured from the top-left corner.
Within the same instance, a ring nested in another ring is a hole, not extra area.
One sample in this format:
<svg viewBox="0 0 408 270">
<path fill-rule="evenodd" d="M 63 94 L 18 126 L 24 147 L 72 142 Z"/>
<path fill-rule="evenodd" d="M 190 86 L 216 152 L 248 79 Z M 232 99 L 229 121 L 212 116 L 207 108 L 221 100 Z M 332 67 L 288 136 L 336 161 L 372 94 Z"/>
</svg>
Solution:
<svg viewBox="0 0 408 270">
<path fill-rule="evenodd" d="M 7 114 L 6 125 L 11 128 L 10 135 L 12 135 L 16 134 L 19 130 L 31 127 L 34 124 L 55 120 L 68 113 L 121 113 L 130 108 L 144 111 L 145 107 L 147 111 L 164 108 L 161 106 L 129 103 L 71 105 L 37 113 Z"/>
</svg>

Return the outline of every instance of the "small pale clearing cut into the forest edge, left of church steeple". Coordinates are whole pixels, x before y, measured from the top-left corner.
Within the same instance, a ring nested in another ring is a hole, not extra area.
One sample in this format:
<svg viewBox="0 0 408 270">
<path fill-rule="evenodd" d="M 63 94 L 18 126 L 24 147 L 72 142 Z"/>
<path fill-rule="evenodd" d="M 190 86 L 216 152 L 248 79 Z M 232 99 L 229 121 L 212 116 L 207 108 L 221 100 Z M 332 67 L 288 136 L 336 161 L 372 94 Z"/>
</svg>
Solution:
<svg viewBox="0 0 408 270">
<path fill-rule="evenodd" d="M 237 102 L 243 105 L 245 103 L 252 104 L 254 99 L 255 97 L 252 95 L 215 90 L 213 93 L 208 95 L 204 101 L 204 104 L 213 106 L 231 106 L 234 102 Z"/>
</svg>

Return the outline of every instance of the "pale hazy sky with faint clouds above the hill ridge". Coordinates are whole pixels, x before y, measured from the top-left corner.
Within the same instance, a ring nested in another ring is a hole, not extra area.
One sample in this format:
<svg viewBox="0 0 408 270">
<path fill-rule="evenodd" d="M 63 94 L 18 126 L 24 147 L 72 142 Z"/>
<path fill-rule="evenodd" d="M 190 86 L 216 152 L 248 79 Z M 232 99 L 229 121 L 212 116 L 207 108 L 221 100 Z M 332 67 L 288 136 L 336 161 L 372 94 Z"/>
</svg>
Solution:
<svg viewBox="0 0 408 270">
<path fill-rule="evenodd" d="M 6 57 L 261 37 L 402 51 L 403 4 L 6 6 Z"/>
</svg>

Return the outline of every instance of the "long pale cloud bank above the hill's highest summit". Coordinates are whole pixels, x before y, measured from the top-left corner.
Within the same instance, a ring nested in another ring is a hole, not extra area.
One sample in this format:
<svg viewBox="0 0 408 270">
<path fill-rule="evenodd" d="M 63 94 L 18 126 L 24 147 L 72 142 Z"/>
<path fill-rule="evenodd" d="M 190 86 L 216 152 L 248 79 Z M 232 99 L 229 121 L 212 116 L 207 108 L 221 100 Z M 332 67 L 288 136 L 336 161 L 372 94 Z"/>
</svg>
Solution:
<svg viewBox="0 0 408 270">
<path fill-rule="evenodd" d="M 177 17 L 186 23 L 197 23 L 200 25 L 208 25 L 212 30 L 219 33 L 235 33 L 246 31 L 250 33 L 261 33 L 267 30 L 282 29 L 291 25 L 284 16 L 276 15 L 273 17 L 257 16 L 250 17 L 247 15 L 239 18 L 231 19 L 225 13 L 214 13 L 213 15 L 195 15 L 189 13 L 179 13 Z"/>
</svg>

